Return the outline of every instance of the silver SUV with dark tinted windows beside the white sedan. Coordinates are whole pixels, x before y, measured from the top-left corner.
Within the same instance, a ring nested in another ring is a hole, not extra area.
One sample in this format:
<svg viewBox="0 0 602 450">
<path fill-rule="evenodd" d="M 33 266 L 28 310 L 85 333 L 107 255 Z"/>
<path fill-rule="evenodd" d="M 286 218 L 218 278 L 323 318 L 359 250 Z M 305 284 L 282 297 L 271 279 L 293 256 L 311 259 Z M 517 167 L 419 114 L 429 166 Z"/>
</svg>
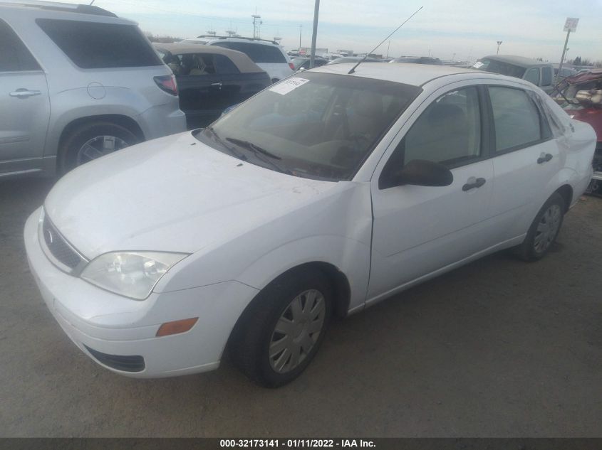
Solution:
<svg viewBox="0 0 602 450">
<path fill-rule="evenodd" d="M 95 6 L 0 3 L 0 178 L 64 173 L 185 129 L 175 78 L 135 23 Z"/>
</svg>

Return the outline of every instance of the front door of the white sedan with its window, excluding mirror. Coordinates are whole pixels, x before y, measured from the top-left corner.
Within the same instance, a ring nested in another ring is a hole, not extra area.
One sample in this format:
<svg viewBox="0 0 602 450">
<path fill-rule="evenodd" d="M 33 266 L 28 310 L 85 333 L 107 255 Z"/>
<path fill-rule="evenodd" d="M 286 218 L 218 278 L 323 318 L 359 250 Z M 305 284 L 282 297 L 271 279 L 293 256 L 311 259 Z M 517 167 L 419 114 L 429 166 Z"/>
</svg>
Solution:
<svg viewBox="0 0 602 450">
<path fill-rule="evenodd" d="M 484 91 L 469 86 L 442 92 L 422 105 L 375 172 L 368 302 L 491 245 L 483 225 L 494 184 L 481 119 Z M 453 183 L 383 185 L 390 171 L 413 159 L 444 164 Z"/>
</svg>

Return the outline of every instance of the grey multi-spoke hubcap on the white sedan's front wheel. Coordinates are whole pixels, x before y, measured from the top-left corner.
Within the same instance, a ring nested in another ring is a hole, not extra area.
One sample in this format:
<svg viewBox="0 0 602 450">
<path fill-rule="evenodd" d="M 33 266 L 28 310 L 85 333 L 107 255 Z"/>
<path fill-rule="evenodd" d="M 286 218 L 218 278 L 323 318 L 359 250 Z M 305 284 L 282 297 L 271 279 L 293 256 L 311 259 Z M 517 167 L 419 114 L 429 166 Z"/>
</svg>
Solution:
<svg viewBox="0 0 602 450">
<path fill-rule="evenodd" d="M 269 362 L 277 373 L 287 373 L 303 362 L 322 332 L 326 301 L 309 289 L 296 296 L 276 322 L 269 343 Z"/>
</svg>

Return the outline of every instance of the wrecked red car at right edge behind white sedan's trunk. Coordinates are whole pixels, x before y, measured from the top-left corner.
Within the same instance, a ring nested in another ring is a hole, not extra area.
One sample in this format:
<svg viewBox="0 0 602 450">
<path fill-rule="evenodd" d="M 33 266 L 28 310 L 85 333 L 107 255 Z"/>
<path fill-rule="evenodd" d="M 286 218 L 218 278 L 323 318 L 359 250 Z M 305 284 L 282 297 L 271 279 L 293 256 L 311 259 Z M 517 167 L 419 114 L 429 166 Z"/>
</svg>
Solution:
<svg viewBox="0 0 602 450">
<path fill-rule="evenodd" d="M 598 136 L 589 193 L 602 195 L 602 69 L 567 77 L 552 92 L 554 100 L 573 118 L 587 122 Z"/>
</svg>

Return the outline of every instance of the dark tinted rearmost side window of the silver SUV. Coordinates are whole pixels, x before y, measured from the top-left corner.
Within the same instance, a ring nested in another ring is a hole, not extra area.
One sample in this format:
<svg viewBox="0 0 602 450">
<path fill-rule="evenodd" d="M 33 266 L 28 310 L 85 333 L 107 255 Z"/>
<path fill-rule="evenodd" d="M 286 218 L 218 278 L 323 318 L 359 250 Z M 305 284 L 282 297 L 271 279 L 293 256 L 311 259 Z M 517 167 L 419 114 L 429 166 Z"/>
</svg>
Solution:
<svg viewBox="0 0 602 450">
<path fill-rule="evenodd" d="M 162 65 L 137 26 L 51 18 L 36 23 L 82 69 Z"/>
</svg>

